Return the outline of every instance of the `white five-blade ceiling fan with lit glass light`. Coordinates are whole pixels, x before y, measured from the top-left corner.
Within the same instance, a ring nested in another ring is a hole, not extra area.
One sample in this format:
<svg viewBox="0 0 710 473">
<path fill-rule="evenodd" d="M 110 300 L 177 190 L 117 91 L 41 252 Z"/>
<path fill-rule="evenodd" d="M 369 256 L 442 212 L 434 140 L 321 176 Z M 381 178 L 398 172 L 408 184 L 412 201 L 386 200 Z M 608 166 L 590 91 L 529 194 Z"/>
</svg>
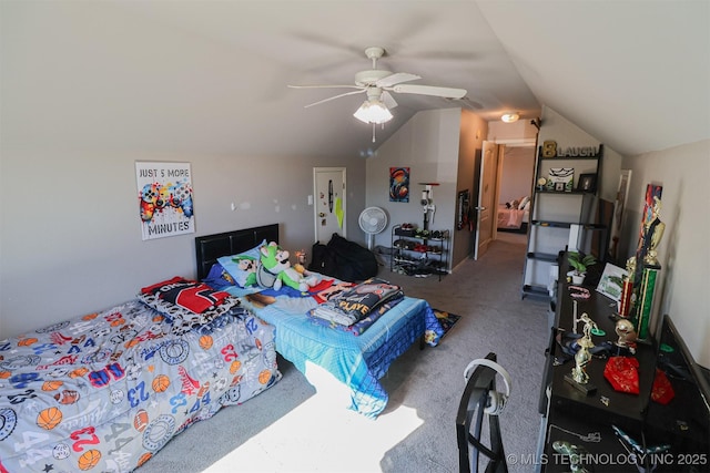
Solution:
<svg viewBox="0 0 710 473">
<path fill-rule="evenodd" d="M 444 99 L 463 99 L 466 95 L 464 89 L 442 88 L 435 85 L 407 84 L 405 82 L 422 79 L 419 75 L 407 72 L 390 72 L 377 69 L 377 60 L 385 54 L 385 49 L 371 47 L 365 50 L 365 55 L 372 60 L 373 68 L 355 74 L 355 84 L 343 85 L 288 85 L 292 89 L 356 89 L 328 99 L 324 99 L 306 105 L 306 107 L 320 105 L 335 99 L 365 93 L 367 100 L 355 112 L 355 117 L 372 124 L 381 124 L 389 121 L 393 116 L 389 109 L 397 106 L 397 102 L 392 96 L 394 93 L 420 94 L 440 96 Z"/>
</svg>

